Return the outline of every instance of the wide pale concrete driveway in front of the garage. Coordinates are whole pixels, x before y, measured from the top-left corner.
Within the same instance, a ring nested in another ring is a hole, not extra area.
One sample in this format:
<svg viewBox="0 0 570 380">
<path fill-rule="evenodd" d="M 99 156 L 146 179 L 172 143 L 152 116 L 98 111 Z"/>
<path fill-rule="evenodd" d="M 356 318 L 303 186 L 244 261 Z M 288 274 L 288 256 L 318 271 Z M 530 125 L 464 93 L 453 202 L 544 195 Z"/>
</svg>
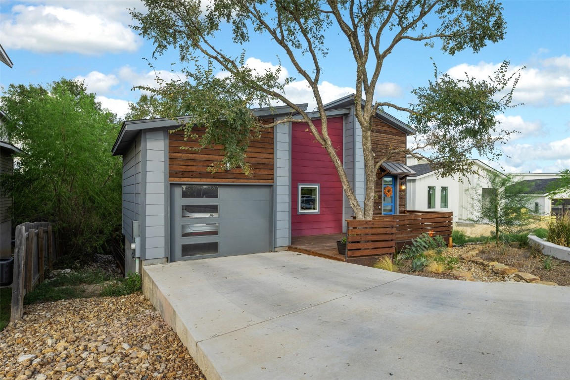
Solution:
<svg viewBox="0 0 570 380">
<path fill-rule="evenodd" d="M 570 288 L 429 279 L 294 252 L 144 267 L 215 379 L 567 379 Z"/>
</svg>

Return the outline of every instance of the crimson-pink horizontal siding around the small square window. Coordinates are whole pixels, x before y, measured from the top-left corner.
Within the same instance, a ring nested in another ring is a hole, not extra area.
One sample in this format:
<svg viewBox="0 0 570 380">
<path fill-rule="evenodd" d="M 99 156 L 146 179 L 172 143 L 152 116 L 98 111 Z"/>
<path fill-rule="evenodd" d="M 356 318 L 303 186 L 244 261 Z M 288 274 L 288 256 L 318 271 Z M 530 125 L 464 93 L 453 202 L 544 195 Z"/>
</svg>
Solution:
<svg viewBox="0 0 570 380">
<path fill-rule="evenodd" d="M 320 128 L 320 121 L 315 121 Z M 291 235 L 321 235 L 343 232 L 343 187 L 328 153 L 306 131 L 307 124 L 292 124 L 291 145 Z M 343 159 L 343 117 L 328 120 L 329 136 Z M 319 183 L 320 213 L 298 214 L 299 183 Z"/>
</svg>

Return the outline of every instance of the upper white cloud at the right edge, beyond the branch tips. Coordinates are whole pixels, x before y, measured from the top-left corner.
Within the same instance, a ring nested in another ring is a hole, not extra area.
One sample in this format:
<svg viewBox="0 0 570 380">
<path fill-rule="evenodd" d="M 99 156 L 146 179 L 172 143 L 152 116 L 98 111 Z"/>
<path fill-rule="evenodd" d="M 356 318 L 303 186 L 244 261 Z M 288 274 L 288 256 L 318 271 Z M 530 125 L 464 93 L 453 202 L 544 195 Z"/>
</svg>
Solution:
<svg viewBox="0 0 570 380">
<path fill-rule="evenodd" d="M 447 73 L 458 79 L 465 78 L 465 73 L 478 80 L 488 79 L 500 64 L 480 62 L 477 65 L 460 64 L 450 68 Z M 513 95 L 513 102 L 532 105 L 570 104 L 570 57 L 562 55 L 536 60 L 520 71 L 520 81 Z M 522 66 L 511 66 L 510 71 Z"/>
</svg>

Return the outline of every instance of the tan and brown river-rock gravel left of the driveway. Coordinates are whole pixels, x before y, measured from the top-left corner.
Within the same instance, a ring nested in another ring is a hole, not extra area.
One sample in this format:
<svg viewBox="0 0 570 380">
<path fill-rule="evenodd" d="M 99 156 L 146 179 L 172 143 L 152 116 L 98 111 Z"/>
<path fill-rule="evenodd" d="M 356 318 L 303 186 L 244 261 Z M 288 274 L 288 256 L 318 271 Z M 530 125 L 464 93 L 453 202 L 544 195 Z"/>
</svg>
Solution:
<svg viewBox="0 0 570 380">
<path fill-rule="evenodd" d="M 0 378 L 205 379 L 141 293 L 27 305 L 0 332 Z"/>
</svg>

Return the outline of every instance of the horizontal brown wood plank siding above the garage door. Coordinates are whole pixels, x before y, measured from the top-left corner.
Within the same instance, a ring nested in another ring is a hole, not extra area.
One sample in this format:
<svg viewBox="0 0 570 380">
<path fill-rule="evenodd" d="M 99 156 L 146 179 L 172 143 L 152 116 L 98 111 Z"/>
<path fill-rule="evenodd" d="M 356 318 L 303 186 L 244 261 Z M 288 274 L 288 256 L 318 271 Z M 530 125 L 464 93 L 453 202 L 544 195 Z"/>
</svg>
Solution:
<svg viewBox="0 0 570 380">
<path fill-rule="evenodd" d="M 203 130 L 194 128 L 198 136 Z M 208 171 L 214 162 L 223 158 L 223 147 L 215 145 L 200 151 L 181 149 L 200 148 L 195 140 L 184 141 L 181 131 L 169 133 L 168 179 L 170 182 L 228 182 L 228 183 L 273 183 L 274 181 L 274 130 L 263 130 L 261 137 L 250 142 L 246 162 L 253 167 L 253 174 L 246 175 L 241 169 Z"/>
</svg>

